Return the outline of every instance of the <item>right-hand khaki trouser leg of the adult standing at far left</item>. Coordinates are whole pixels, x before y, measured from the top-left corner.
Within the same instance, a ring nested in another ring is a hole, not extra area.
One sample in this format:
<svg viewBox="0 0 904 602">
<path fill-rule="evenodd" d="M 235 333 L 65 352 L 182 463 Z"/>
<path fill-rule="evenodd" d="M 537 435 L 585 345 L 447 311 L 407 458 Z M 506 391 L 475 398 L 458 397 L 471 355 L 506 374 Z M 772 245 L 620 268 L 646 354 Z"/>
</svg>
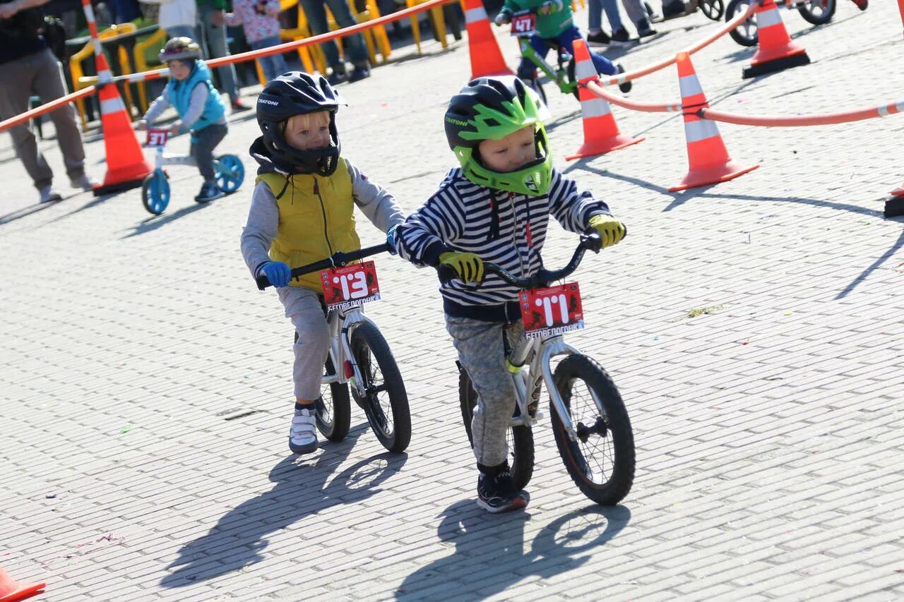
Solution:
<svg viewBox="0 0 904 602">
<path fill-rule="evenodd" d="M 66 84 L 62 77 L 60 61 L 47 49 L 35 55 L 39 61 L 34 77 L 34 92 L 44 103 L 59 99 L 66 95 Z M 57 142 L 60 144 L 66 174 L 73 182 L 83 179 L 85 175 L 85 148 L 81 144 L 81 131 L 75 120 L 75 107 L 72 103 L 52 111 L 51 119 L 56 128 Z"/>
</svg>

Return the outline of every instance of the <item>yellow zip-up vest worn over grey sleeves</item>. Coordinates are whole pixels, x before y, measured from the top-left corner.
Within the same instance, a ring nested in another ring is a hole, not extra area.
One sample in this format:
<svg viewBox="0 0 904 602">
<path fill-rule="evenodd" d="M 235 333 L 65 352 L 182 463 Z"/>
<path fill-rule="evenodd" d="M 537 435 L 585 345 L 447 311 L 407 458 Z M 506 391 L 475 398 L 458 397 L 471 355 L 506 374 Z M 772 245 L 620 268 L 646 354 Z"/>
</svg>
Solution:
<svg viewBox="0 0 904 602">
<path fill-rule="evenodd" d="M 273 196 L 285 187 L 277 199 L 279 225 L 277 237 L 270 245 L 270 259 L 283 261 L 297 268 L 336 251 L 361 249 L 361 240 L 354 230 L 354 201 L 352 176 L 348 166 L 340 160 L 333 175 L 297 174 L 287 178 L 282 174 L 262 174 L 256 181 L 267 183 Z M 288 185 L 286 181 L 288 180 Z M 317 292 L 318 272 L 292 280 L 290 287 L 307 287 Z"/>
</svg>

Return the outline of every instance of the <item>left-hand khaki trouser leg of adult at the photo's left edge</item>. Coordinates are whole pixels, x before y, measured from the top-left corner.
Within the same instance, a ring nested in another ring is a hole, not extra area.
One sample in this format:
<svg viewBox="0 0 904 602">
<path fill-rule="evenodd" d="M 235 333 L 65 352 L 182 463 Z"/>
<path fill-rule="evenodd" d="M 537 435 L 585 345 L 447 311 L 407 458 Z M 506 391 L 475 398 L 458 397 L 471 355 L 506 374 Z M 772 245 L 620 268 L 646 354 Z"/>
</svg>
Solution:
<svg viewBox="0 0 904 602">
<path fill-rule="evenodd" d="M 49 51 L 48 51 L 49 52 Z M 19 59 L 0 64 L 0 117 L 13 118 L 28 110 L 28 99 L 40 60 L 39 53 L 30 54 Z M 13 137 L 16 155 L 22 159 L 25 171 L 32 178 L 38 190 L 46 188 L 53 182 L 53 172 L 47 160 L 38 149 L 29 124 L 13 127 L 9 130 Z"/>
</svg>

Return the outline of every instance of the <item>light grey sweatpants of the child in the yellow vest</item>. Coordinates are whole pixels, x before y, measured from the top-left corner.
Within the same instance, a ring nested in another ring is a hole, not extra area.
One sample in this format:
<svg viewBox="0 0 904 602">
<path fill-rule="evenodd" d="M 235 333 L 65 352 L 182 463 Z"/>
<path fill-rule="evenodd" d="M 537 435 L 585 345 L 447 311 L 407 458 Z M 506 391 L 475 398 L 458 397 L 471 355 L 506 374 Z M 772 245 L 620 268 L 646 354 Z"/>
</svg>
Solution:
<svg viewBox="0 0 904 602">
<path fill-rule="evenodd" d="M 298 333 L 298 340 L 293 345 L 295 396 L 299 400 L 316 400 L 320 397 L 320 381 L 330 344 L 320 299 L 315 291 L 306 287 L 277 288 L 277 293 L 286 308 L 286 317 Z"/>
</svg>

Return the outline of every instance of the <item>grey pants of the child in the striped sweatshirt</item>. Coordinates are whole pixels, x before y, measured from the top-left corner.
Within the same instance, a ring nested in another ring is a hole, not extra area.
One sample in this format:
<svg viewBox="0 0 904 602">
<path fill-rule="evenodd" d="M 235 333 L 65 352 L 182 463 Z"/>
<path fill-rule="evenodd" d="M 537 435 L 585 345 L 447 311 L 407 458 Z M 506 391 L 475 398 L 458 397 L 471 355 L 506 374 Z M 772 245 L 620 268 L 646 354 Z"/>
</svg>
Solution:
<svg viewBox="0 0 904 602">
<path fill-rule="evenodd" d="M 485 466 L 499 466 L 508 456 L 505 431 L 515 409 L 514 385 L 505 368 L 503 336 L 515 343 L 524 332 L 514 325 L 493 324 L 469 318 L 446 316 L 446 329 L 458 352 L 458 361 L 477 392 L 471 421 L 474 456 Z"/>
</svg>

